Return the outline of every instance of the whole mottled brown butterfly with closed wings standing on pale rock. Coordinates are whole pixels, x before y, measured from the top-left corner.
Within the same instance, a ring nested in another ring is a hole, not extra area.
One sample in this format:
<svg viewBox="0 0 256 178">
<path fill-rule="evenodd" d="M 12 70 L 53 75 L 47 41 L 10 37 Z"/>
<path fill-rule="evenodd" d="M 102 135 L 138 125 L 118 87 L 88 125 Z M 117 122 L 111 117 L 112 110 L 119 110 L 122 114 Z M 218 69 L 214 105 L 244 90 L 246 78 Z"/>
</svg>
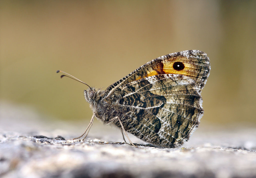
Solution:
<svg viewBox="0 0 256 178">
<path fill-rule="evenodd" d="M 89 86 L 84 97 L 93 112 L 86 131 L 75 139 L 84 134 L 86 138 L 96 117 L 120 128 L 128 139 L 126 132 L 157 147 L 181 146 L 204 114 L 201 90 L 209 74 L 207 54 L 187 50 L 147 62 L 106 90 L 90 87 L 74 77 Z"/>
</svg>

